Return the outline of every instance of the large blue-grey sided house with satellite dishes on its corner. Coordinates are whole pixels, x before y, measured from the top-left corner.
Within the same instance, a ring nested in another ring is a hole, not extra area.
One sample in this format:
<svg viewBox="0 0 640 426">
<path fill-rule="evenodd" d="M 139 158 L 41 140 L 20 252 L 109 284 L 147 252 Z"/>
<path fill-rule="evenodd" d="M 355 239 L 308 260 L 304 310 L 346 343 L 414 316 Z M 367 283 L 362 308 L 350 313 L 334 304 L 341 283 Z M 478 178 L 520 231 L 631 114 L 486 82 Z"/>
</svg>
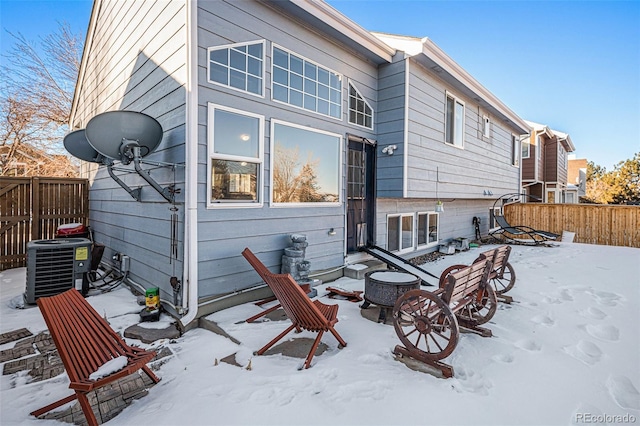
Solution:
<svg viewBox="0 0 640 426">
<path fill-rule="evenodd" d="M 136 202 L 86 163 L 91 226 L 163 301 L 182 281 L 183 326 L 260 288 L 244 247 L 277 271 L 304 234 L 313 273 L 340 274 L 365 244 L 415 256 L 472 238 L 476 216 L 486 233 L 494 200 L 519 191 L 530 131 L 430 40 L 310 0 L 96 0 L 72 128 L 111 110 L 160 122 L 145 160 L 177 164 L 153 176 L 181 192 L 169 205 L 145 186 Z"/>
</svg>

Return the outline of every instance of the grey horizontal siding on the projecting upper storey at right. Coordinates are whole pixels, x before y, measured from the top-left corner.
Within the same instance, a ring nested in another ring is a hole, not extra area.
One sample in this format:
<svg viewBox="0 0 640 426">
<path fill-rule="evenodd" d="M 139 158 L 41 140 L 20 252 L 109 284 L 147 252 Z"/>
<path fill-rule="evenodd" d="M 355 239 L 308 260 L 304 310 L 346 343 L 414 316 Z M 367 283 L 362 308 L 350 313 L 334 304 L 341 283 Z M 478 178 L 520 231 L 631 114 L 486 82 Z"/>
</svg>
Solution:
<svg viewBox="0 0 640 426">
<path fill-rule="evenodd" d="M 410 198 L 483 198 L 515 192 L 520 172 L 511 166 L 511 129 L 473 100 L 450 90 L 431 71 L 412 63 L 409 89 L 408 191 Z M 465 103 L 464 148 L 444 142 L 445 99 Z M 491 120 L 490 138 L 481 133 L 483 115 Z"/>
</svg>

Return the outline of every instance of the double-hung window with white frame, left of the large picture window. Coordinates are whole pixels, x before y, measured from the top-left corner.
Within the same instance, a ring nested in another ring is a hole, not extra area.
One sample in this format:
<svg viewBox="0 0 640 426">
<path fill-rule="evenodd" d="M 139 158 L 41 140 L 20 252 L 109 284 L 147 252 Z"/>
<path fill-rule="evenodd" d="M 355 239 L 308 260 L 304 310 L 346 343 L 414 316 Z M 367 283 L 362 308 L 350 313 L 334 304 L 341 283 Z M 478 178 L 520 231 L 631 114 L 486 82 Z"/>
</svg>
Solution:
<svg viewBox="0 0 640 426">
<path fill-rule="evenodd" d="M 260 205 L 264 119 L 209 104 L 208 206 Z"/>
</svg>

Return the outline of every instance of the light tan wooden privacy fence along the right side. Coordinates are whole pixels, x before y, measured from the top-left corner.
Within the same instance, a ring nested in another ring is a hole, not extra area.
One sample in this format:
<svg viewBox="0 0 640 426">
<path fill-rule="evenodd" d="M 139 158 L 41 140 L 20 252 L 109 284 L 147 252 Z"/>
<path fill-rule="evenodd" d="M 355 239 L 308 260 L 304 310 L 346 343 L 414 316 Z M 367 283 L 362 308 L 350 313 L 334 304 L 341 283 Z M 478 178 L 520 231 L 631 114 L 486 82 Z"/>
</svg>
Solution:
<svg viewBox="0 0 640 426">
<path fill-rule="evenodd" d="M 504 215 L 514 226 L 575 232 L 577 243 L 640 247 L 640 206 L 517 203 Z"/>
</svg>

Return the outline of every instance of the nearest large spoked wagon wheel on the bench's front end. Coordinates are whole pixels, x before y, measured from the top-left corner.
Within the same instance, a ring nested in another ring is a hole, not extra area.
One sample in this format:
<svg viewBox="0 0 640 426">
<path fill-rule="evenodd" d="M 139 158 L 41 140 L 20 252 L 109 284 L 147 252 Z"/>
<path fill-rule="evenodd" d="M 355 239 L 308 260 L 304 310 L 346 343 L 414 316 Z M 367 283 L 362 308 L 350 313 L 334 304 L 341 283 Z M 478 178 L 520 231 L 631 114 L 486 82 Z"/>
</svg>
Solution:
<svg viewBox="0 0 640 426">
<path fill-rule="evenodd" d="M 393 308 L 393 327 L 416 358 L 437 361 L 451 355 L 458 344 L 458 320 L 437 295 L 410 290 Z"/>
</svg>

